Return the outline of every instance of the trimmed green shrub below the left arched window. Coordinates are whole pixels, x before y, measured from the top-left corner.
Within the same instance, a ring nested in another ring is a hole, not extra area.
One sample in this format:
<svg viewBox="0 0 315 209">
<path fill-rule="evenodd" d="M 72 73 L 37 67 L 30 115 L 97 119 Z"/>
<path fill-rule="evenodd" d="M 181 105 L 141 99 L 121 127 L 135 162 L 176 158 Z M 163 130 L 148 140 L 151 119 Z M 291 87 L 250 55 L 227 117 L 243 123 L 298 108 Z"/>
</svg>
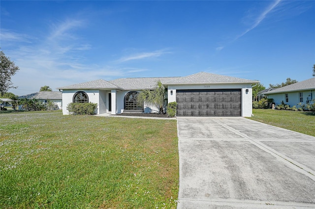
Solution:
<svg viewBox="0 0 315 209">
<path fill-rule="evenodd" d="M 69 103 L 67 110 L 71 115 L 95 115 L 96 103 Z"/>
</svg>

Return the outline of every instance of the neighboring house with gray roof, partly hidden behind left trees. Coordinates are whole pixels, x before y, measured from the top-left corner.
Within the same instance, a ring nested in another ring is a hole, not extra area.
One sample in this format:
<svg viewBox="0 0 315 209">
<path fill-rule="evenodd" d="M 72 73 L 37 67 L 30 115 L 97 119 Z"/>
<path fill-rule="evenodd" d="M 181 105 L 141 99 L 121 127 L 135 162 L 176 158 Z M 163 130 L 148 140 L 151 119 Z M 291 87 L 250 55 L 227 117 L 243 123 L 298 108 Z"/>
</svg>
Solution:
<svg viewBox="0 0 315 209">
<path fill-rule="evenodd" d="M 63 108 L 63 92 L 61 91 L 39 91 L 36 93 L 28 94 L 19 97 L 19 99 L 27 98 L 27 99 L 37 99 L 43 103 L 47 103 L 51 101 L 58 105 L 59 109 Z"/>
</svg>

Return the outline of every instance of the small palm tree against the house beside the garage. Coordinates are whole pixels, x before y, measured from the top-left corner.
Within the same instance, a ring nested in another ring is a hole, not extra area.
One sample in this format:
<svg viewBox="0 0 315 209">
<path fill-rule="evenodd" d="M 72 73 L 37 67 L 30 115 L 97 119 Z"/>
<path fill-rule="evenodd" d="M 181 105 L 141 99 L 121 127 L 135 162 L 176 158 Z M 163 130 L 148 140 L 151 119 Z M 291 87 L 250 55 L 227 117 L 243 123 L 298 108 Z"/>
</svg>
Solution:
<svg viewBox="0 0 315 209">
<path fill-rule="evenodd" d="M 163 106 L 165 101 L 165 87 L 160 80 L 157 82 L 155 89 L 145 89 L 139 94 L 137 94 L 138 104 L 143 104 L 144 102 L 148 105 L 154 105 L 158 107 L 159 114 L 163 113 Z"/>
</svg>

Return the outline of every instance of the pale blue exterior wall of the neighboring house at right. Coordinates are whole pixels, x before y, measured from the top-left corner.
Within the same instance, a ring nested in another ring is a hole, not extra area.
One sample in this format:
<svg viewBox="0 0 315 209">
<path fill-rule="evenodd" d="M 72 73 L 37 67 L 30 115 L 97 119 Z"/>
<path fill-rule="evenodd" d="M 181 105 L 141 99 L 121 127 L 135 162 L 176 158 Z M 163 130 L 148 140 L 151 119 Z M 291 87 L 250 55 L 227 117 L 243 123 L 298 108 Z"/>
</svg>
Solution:
<svg viewBox="0 0 315 209">
<path fill-rule="evenodd" d="M 284 104 L 288 104 L 290 107 L 297 105 L 300 103 L 300 95 L 299 93 L 303 92 L 303 104 L 306 104 L 306 101 L 309 100 L 310 104 L 313 104 L 313 99 L 315 90 L 307 90 L 307 91 L 294 91 L 294 92 L 283 92 L 278 94 L 268 94 L 268 99 L 274 99 L 274 103 L 276 105 L 281 104 L 283 101 Z M 285 94 L 288 94 L 288 102 L 285 102 Z M 310 95 L 310 96 L 309 96 Z"/>
</svg>

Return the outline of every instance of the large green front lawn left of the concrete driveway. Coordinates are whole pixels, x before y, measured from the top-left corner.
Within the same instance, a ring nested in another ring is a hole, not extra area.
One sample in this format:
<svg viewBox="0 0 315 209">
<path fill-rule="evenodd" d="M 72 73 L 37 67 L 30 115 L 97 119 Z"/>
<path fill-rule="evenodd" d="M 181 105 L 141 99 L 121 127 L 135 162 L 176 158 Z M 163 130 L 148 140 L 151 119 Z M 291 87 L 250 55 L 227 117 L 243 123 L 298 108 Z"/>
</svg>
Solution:
<svg viewBox="0 0 315 209">
<path fill-rule="evenodd" d="M 0 208 L 176 208 L 176 121 L 0 114 Z"/>
</svg>

